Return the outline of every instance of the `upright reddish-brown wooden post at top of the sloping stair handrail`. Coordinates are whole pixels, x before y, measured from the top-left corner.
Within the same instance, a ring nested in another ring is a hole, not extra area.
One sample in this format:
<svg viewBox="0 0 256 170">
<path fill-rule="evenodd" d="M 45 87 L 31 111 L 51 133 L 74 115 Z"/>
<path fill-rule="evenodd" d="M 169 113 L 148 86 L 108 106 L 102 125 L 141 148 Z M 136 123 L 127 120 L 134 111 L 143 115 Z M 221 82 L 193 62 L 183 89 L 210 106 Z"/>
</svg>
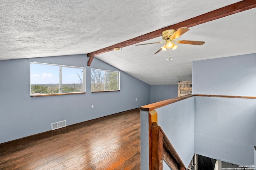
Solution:
<svg viewBox="0 0 256 170">
<path fill-rule="evenodd" d="M 163 169 L 163 133 L 156 122 L 152 123 L 151 170 Z"/>
</svg>

